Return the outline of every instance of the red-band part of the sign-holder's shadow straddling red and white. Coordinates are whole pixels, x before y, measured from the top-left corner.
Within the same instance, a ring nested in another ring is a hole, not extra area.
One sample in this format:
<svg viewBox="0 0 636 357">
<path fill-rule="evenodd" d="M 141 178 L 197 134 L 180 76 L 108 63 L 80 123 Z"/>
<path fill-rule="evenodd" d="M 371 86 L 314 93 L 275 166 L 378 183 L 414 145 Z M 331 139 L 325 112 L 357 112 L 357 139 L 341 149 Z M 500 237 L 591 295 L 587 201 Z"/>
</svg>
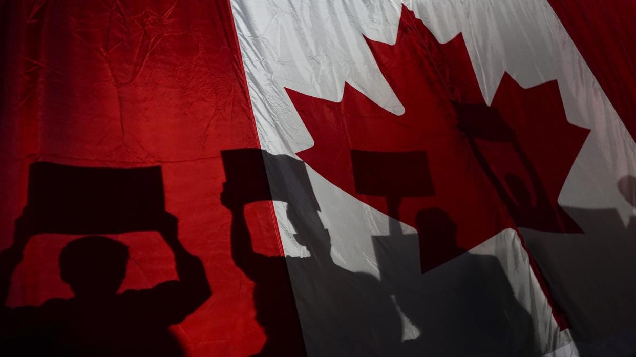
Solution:
<svg viewBox="0 0 636 357">
<path fill-rule="evenodd" d="M 226 176 L 221 203 L 232 213 L 232 259 L 254 282 L 256 321 L 267 336 L 257 356 L 304 356 L 305 344 L 286 259 L 255 251 L 245 218 L 247 204 L 273 199 L 263 163 L 264 155 L 270 160 L 275 158 L 259 149 L 221 151 Z"/>
</svg>

